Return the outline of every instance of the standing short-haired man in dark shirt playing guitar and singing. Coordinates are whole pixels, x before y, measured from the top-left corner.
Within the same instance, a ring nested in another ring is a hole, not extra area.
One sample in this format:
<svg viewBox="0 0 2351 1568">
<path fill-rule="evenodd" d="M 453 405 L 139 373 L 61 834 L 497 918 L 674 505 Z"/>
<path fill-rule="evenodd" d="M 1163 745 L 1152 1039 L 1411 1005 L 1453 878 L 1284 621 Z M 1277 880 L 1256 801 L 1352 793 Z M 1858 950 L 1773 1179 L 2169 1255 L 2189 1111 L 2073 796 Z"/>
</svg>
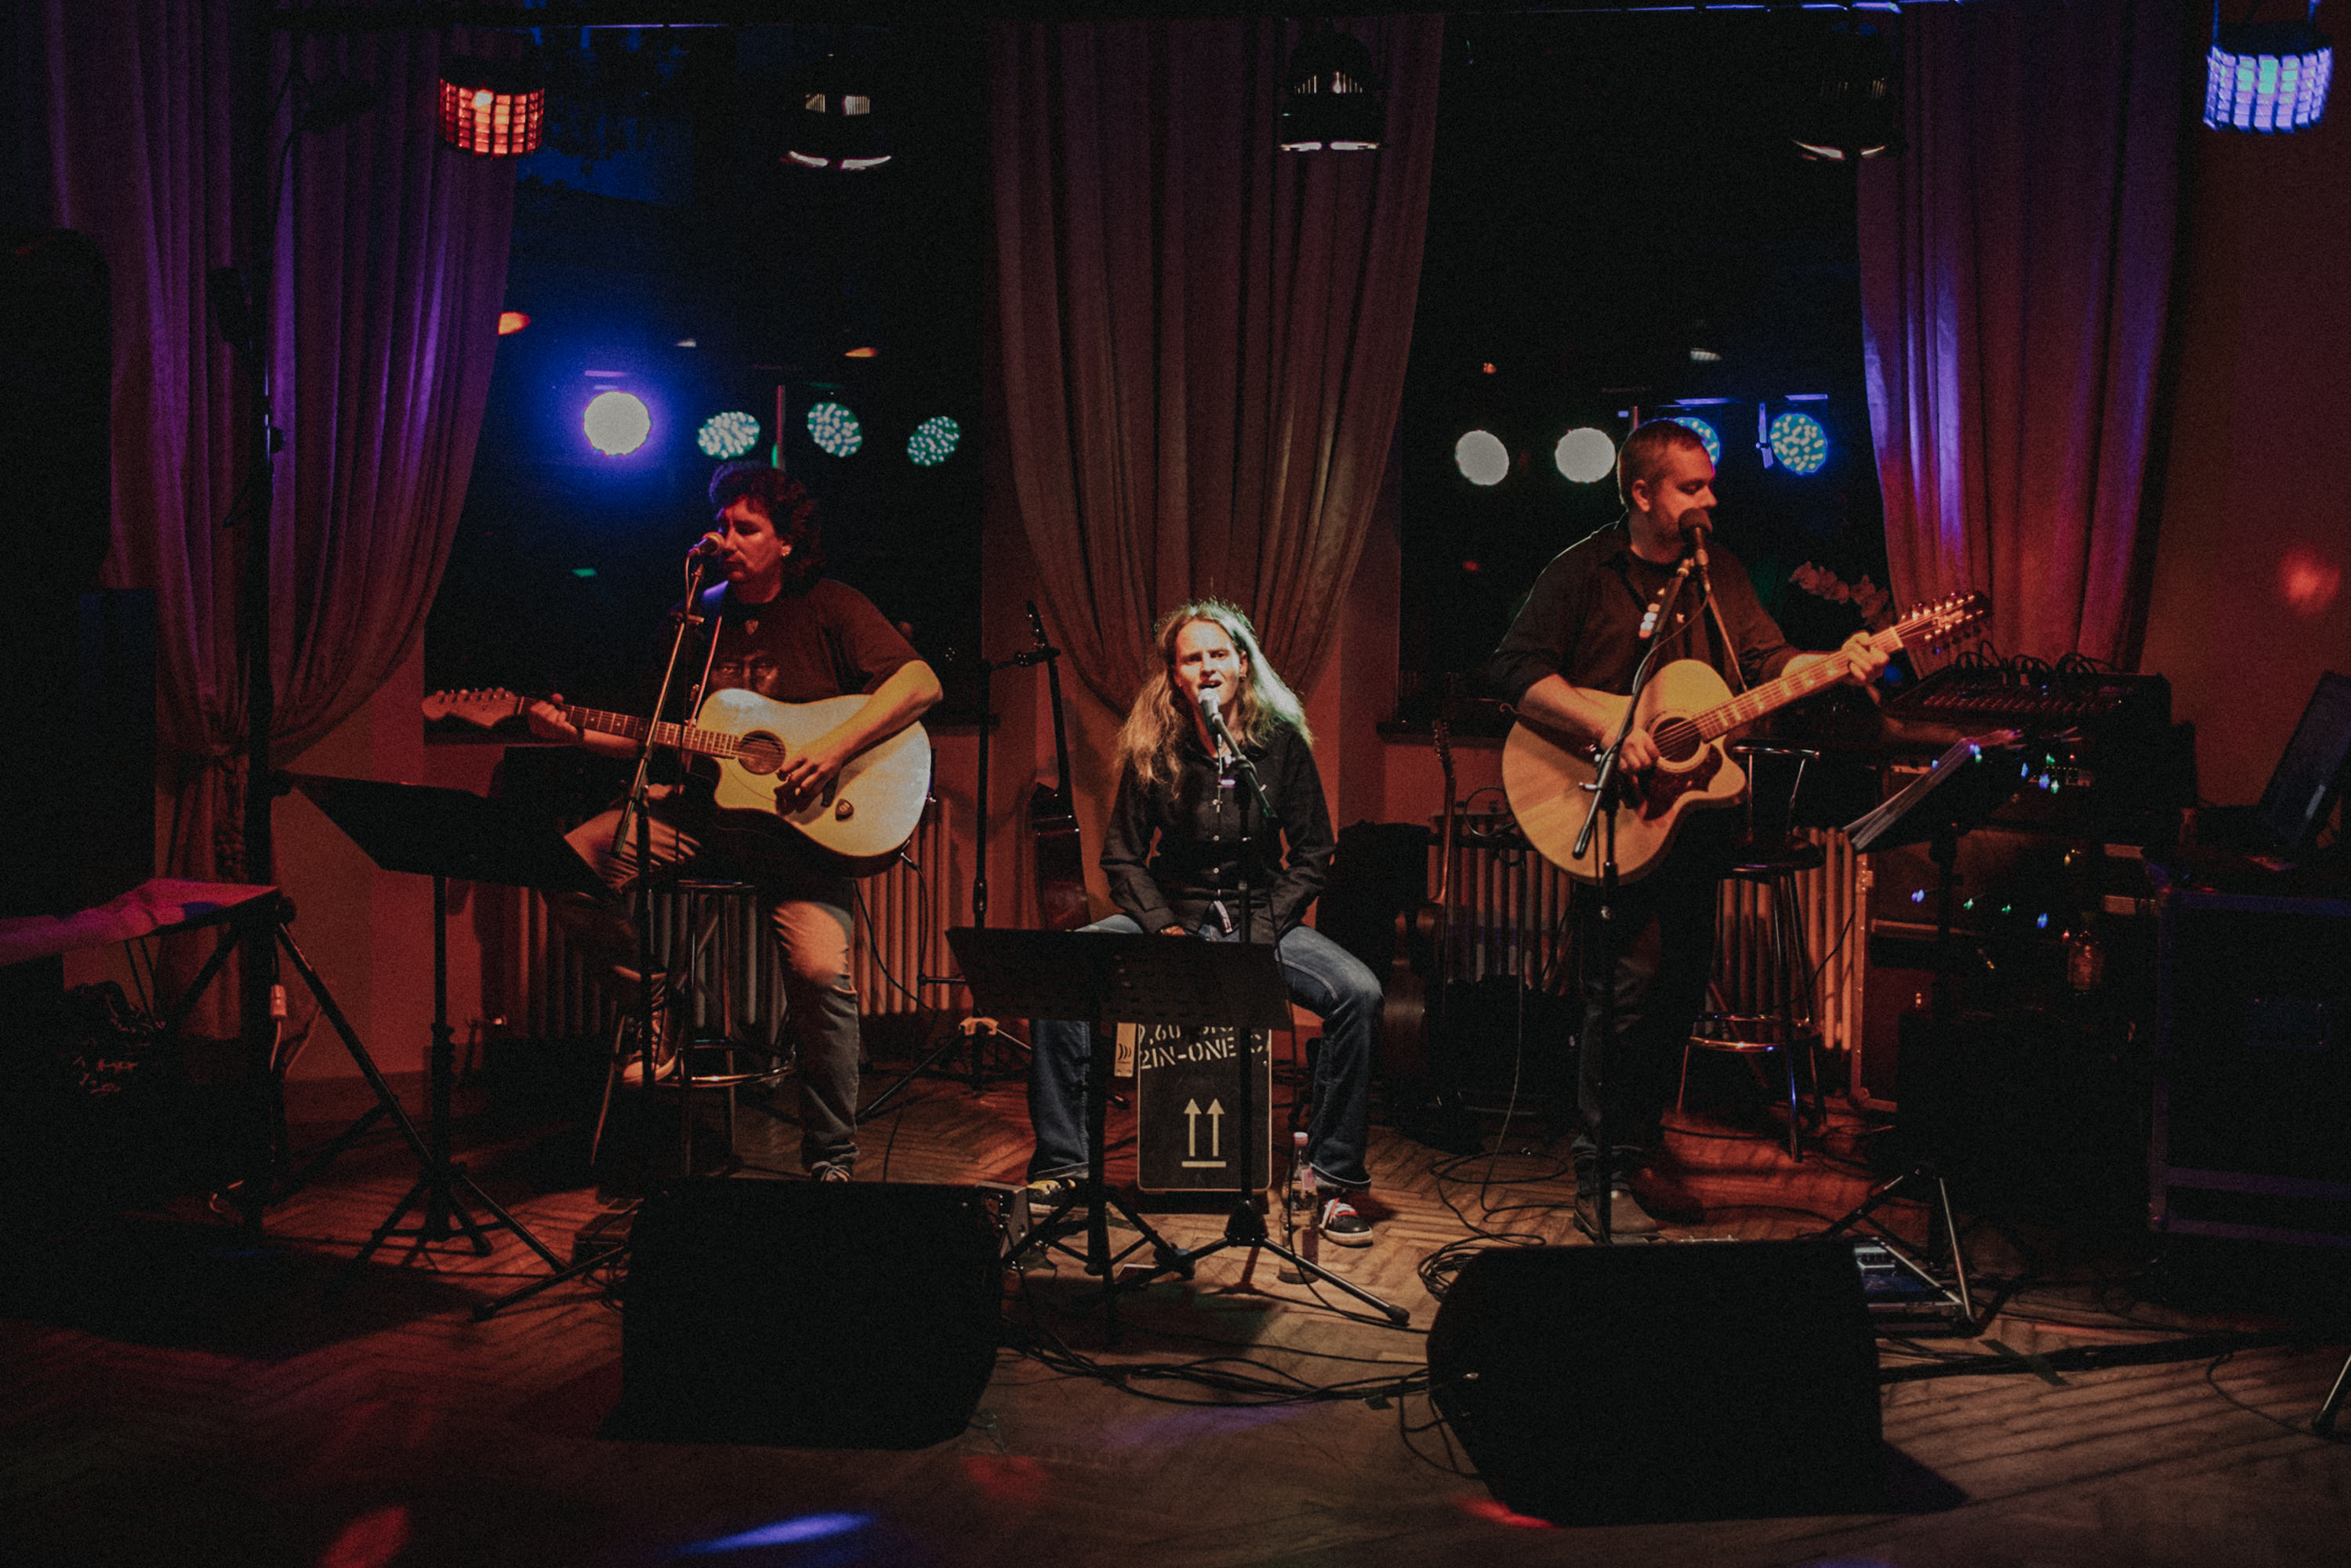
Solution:
<svg viewBox="0 0 2351 1568">
<path fill-rule="evenodd" d="M 1700 437 L 1669 418 L 1650 421 L 1617 454 L 1617 494 L 1625 517 L 1561 550 L 1535 578 L 1502 646 L 1486 663 L 1486 679 L 1538 722 L 1580 743 L 1615 738 L 1622 696 L 1653 639 L 1665 644 L 1660 665 L 1697 658 L 1735 684 L 1801 672 L 1820 661 L 1846 665 L 1843 679 L 1867 682 L 1886 654 L 1855 632 L 1834 654 L 1799 654 L 1756 599 L 1747 571 L 1712 545 L 1707 576 L 1714 607 L 1693 578 L 1674 609 L 1643 635 L 1643 616 L 1674 581 L 1683 557 L 1707 548 L 1714 508 L 1714 463 Z M 1726 635 L 1728 632 L 1728 639 Z M 1617 701 L 1608 701 L 1615 696 Z M 1634 785 L 1660 766 L 1657 743 L 1643 729 L 1625 736 L 1617 757 Z M 1606 952 L 1596 889 L 1575 889 L 1578 936 L 1585 957 L 1585 1023 L 1580 1030 L 1580 1093 L 1575 1131 L 1575 1218 L 1596 1229 L 1599 1182 L 1610 1182 L 1610 1229 L 1653 1234 L 1657 1222 L 1634 1201 L 1629 1178 L 1657 1147 L 1660 1117 L 1681 1046 L 1707 997 L 1714 966 L 1714 896 L 1728 870 L 1735 813 L 1697 811 L 1683 823 L 1665 858 L 1617 891 L 1615 973 L 1599 973 L 1592 954 Z M 1599 1051 L 1603 985 L 1615 985 L 1615 1041 Z M 1596 1070 L 1606 1065 L 1610 1159 L 1601 1159 L 1601 1098 Z"/>
</svg>

